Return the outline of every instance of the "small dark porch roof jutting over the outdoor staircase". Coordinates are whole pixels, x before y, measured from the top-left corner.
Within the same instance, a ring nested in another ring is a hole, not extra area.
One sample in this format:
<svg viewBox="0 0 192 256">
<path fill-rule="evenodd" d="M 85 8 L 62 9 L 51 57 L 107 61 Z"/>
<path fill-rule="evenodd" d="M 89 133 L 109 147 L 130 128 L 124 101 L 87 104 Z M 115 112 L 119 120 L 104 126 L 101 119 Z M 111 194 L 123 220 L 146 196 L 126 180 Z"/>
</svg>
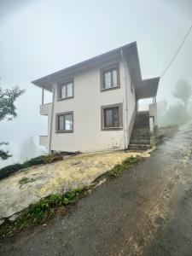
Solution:
<svg viewBox="0 0 192 256">
<path fill-rule="evenodd" d="M 137 88 L 137 99 L 153 98 L 157 95 L 160 77 L 142 80 Z"/>
</svg>

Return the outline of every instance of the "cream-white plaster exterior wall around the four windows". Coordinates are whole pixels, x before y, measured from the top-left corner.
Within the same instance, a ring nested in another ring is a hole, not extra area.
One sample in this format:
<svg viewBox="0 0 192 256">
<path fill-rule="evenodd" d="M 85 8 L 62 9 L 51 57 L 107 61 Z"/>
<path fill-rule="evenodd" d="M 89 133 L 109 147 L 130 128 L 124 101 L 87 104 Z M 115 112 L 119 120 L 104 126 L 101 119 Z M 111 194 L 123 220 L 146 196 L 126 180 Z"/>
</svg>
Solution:
<svg viewBox="0 0 192 256">
<path fill-rule="evenodd" d="M 105 66 L 108 66 L 107 63 Z M 101 106 L 124 103 L 123 123 L 125 123 L 125 69 L 119 61 L 120 88 L 102 91 L 100 89 L 100 67 L 89 68 L 73 76 L 74 97 L 57 101 L 57 84 L 52 120 L 51 150 L 61 151 L 102 151 L 125 148 L 125 132 L 102 131 Z M 135 108 L 135 96 L 131 93 L 130 74 L 126 73 L 128 86 L 128 121 L 131 111 Z M 73 132 L 56 133 L 55 115 L 73 111 Z M 50 114 L 49 114 L 50 119 Z M 123 124 L 124 127 L 124 124 Z M 127 145 L 126 145 L 127 146 Z"/>
</svg>

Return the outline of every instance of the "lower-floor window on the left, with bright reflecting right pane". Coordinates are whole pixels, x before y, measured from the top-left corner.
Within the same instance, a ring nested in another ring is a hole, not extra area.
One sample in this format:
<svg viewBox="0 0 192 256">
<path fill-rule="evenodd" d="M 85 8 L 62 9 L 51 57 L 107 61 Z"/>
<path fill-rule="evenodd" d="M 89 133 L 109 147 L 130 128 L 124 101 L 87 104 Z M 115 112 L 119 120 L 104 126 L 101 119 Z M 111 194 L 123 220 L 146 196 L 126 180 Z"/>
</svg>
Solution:
<svg viewBox="0 0 192 256">
<path fill-rule="evenodd" d="M 56 131 L 73 131 L 73 112 L 57 114 Z"/>
</svg>

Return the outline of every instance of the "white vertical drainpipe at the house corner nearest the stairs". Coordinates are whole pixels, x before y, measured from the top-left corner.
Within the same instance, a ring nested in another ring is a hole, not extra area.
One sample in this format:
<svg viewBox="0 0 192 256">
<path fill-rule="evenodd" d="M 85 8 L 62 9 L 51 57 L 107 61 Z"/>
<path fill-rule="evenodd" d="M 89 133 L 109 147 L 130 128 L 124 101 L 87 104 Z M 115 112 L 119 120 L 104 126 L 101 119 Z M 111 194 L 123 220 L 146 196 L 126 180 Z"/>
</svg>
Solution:
<svg viewBox="0 0 192 256">
<path fill-rule="evenodd" d="M 123 49 L 120 50 L 123 66 L 124 66 L 124 79 L 125 79 L 125 122 L 124 122 L 124 142 L 125 142 L 125 148 L 128 147 L 128 140 L 129 140 L 129 135 L 128 135 L 128 91 L 127 91 L 127 75 L 126 75 L 126 64 L 125 64 L 125 57 L 124 57 L 124 52 Z"/>
</svg>

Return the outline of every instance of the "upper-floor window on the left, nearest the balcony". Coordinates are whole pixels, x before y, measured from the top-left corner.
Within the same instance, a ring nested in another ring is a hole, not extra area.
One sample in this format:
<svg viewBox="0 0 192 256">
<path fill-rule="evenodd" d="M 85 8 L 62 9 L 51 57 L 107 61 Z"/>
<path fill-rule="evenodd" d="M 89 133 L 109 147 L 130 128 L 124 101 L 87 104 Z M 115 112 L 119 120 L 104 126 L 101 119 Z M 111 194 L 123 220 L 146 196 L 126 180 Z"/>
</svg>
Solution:
<svg viewBox="0 0 192 256">
<path fill-rule="evenodd" d="M 58 86 L 58 99 L 73 97 L 73 81 L 60 83 Z"/>
</svg>

